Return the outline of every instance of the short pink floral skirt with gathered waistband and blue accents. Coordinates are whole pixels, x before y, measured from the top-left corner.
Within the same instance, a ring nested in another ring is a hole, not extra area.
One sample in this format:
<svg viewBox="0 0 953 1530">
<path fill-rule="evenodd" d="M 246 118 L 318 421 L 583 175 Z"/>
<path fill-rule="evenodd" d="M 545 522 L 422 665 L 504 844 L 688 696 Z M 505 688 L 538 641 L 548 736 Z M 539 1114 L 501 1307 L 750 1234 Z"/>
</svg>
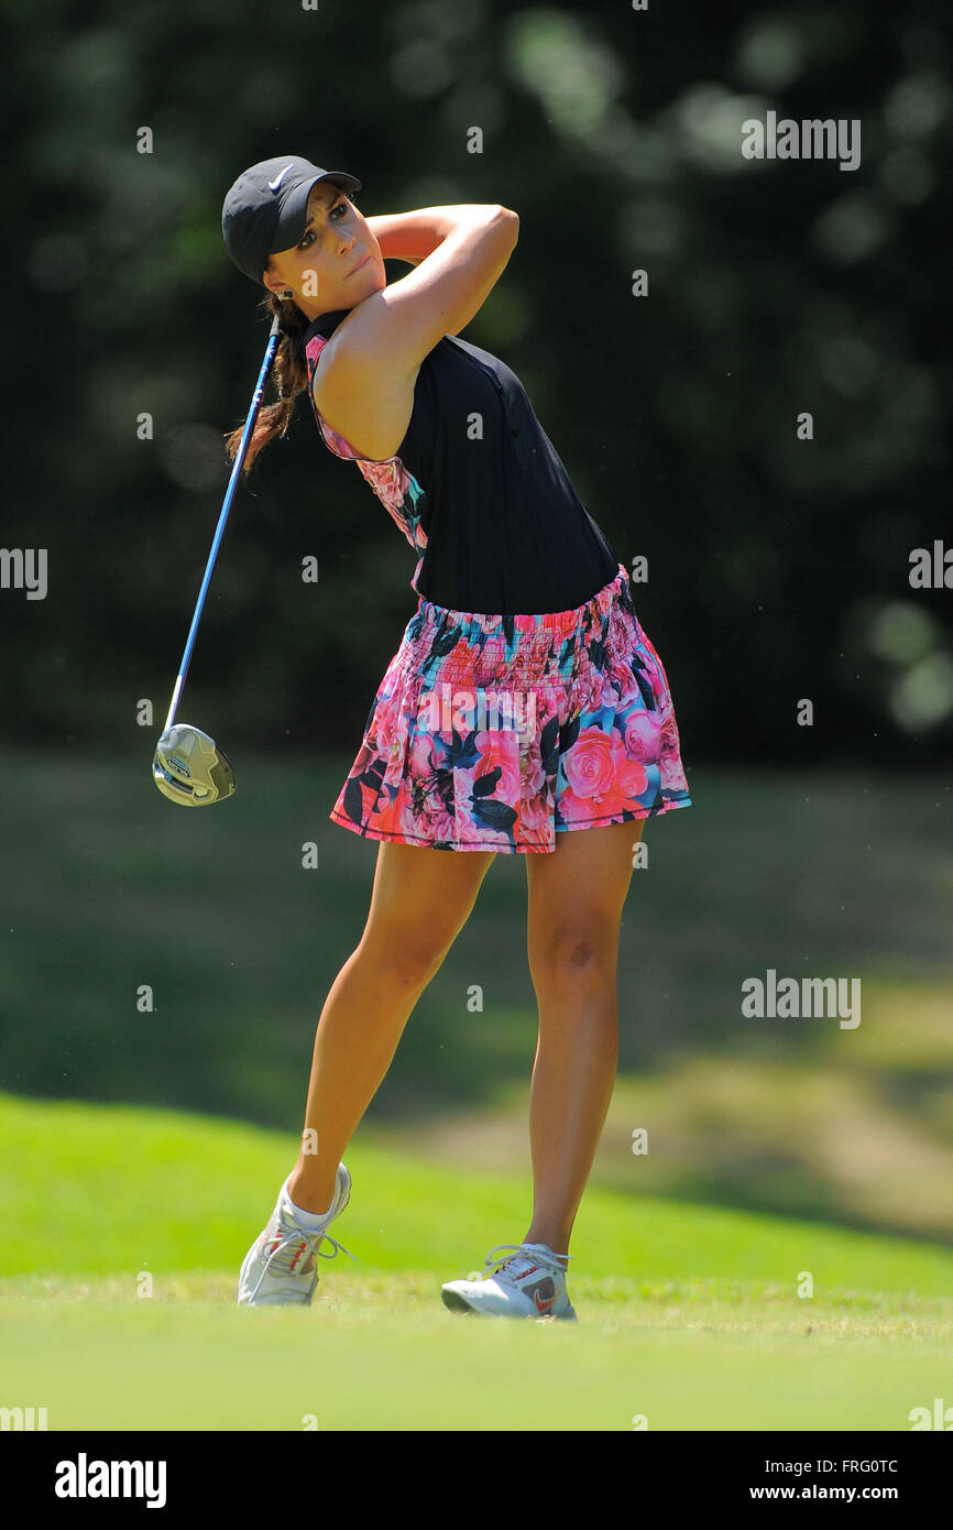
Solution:
<svg viewBox="0 0 953 1530">
<path fill-rule="evenodd" d="M 329 817 L 370 840 L 514 854 L 688 806 L 668 679 L 620 563 L 572 610 L 421 597 Z"/>
</svg>

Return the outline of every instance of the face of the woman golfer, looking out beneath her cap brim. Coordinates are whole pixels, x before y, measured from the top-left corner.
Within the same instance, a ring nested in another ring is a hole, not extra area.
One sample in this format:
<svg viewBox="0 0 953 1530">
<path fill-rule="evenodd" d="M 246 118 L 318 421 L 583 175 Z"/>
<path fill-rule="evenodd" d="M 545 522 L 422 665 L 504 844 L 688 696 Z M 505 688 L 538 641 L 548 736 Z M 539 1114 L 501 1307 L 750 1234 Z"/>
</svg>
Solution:
<svg viewBox="0 0 953 1530">
<path fill-rule="evenodd" d="M 387 272 L 381 246 L 353 202 L 330 181 L 315 181 L 301 242 L 272 254 L 262 280 L 271 292 L 291 288 L 301 312 L 317 318 L 379 292 Z"/>
</svg>

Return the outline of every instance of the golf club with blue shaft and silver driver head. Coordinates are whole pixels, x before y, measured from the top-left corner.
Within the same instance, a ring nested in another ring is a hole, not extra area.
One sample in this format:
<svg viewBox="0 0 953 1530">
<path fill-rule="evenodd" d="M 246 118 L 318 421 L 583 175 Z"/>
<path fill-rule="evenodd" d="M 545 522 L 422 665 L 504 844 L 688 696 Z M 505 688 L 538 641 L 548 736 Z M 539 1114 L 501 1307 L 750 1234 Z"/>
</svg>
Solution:
<svg viewBox="0 0 953 1530">
<path fill-rule="evenodd" d="M 239 474 L 242 473 L 242 464 L 245 462 L 248 442 L 251 441 L 251 433 L 255 427 L 255 419 L 259 416 L 262 398 L 265 396 L 268 375 L 271 372 L 280 338 L 281 324 L 280 318 L 275 315 L 268 334 L 265 360 L 262 361 L 262 370 L 259 372 L 259 381 L 255 382 L 251 409 L 248 410 L 248 419 L 245 421 L 245 430 L 242 431 L 242 441 L 236 453 L 228 488 L 225 490 L 222 514 L 219 516 L 219 525 L 216 526 L 211 552 L 208 554 L 208 563 L 205 565 L 205 578 L 202 580 L 196 610 L 191 618 L 191 627 L 188 629 L 188 638 L 185 640 L 185 652 L 179 666 L 179 675 L 171 695 L 168 715 L 165 718 L 165 727 L 162 728 L 153 759 L 153 780 L 162 796 L 168 797 L 170 802 L 179 802 L 187 808 L 203 808 L 211 802 L 223 802 L 225 797 L 231 797 L 236 789 L 236 773 L 225 751 L 220 750 L 216 741 L 211 739 L 208 733 L 203 733 L 202 728 L 196 728 L 190 722 L 174 722 L 174 716 L 182 695 L 182 685 L 185 684 L 196 632 L 199 630 L 199 618 L 202 615 L 202 606 L 205 604 L 205 594 L 211 580 L 211 571 L 219 552 L 236 483 L 239 482 Z"/>
</svg>

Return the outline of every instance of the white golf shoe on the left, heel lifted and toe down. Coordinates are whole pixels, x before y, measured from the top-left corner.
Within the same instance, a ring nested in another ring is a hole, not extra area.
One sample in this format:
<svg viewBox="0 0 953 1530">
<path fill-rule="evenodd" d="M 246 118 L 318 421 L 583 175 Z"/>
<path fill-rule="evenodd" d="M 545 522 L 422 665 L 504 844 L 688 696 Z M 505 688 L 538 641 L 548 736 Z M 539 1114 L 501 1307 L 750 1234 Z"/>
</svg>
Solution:
<svg viewBox="0 0 953 1530">
<path fill-rule="evenodd" d="M 318 1256 L 335 1259 L 341 1250 L 349 1259 L 356 1258 L 324 1232 L 350 1200 L 350 1175 L 344 1164 L 338 1164 L 335 1196 L 317 1232 L 298 1226 L 285 1196 L 286 1187 L 288 1180 L 278 1190 L 268 1226 L 242 1261 L 239 1307 L 311 1307 L 318 1284 Z M 332 1244 L 333 1253 L 318 1247 L 321 1242 Z"/>
</svg>

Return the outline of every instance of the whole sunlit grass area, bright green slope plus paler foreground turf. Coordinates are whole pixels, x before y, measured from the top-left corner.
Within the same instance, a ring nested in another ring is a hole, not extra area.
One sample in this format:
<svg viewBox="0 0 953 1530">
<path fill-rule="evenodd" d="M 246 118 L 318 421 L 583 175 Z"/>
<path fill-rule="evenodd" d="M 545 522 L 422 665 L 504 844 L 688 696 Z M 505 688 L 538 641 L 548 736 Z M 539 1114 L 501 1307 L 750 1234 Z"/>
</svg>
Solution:
<svg viewBox="0 0 953 1530">
<path fill-rule="evenodd" d="M 441 1282 L 525 1235 L 528 1181 L 367 1128 L 335 1224 L 359 1262 L 323 1261 L 311 1308 L 237 1308 L 289 1146 L 0 1095 L 0 1403 L 50 1429 L 896 1431 L 953 1401 L 953 1250 L 590 1187 L 580 1322 L 462 1317 Z"/>
</svg>

